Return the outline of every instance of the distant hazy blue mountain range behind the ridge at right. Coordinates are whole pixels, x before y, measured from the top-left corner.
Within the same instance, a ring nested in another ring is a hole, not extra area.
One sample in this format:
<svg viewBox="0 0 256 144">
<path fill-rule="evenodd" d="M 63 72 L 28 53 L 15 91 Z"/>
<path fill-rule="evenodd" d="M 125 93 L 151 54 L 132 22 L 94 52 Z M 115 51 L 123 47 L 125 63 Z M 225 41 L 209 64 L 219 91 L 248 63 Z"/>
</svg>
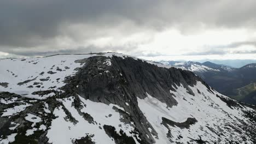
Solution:
<svg viewBox="0 0 256 144">
<path fill-rule="evenodd" d="M 256 63 L 241 68 L 212 62 L 160 61 L 159 63 L 193 71 L 218 92 L 248 104 L 256 104 Z"/>
</svg>

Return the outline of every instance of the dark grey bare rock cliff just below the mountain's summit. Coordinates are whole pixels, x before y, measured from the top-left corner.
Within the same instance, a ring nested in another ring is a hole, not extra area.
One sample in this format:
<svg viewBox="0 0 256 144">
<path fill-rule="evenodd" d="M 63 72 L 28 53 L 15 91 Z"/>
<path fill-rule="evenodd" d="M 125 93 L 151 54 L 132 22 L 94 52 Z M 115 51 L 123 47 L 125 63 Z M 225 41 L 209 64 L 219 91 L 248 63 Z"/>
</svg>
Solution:
<svg viewBox="0 0 256 144">
<path fill-rule="evenodd" d="M 201 79 L 190 71 L 176 68 L 159 68 L 156 65 L 133 58 L 113 56 L 112 67 L 102 65 L 107 57 L 90 57 L 85 59 L 85 66 L 72 77 L 65 90 L 83 95 L 86 99 L 103 103 L 117 104 L 132 98 L 145 98 L 146 92 L 155 95 L 168 106 L 176 105 L 170 89 L 174 83 L 181 84 L 191 92 L 188 86 L 193 86 Z M 99 69 L 100 68 L 100 69 Z M 73 91 L 77 87 L 77 92 Z M 136 101 L 136 100 L 132 100 Z"/>
</svg>

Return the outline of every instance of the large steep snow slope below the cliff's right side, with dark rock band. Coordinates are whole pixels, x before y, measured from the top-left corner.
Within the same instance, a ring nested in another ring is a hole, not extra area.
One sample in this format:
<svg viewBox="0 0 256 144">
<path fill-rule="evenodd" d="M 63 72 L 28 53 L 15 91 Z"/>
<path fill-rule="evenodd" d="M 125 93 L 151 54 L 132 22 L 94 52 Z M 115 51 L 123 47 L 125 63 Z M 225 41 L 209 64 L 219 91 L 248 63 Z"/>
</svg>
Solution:
<svg viewBox="0 0 256 144">
<path fill-rule="evenodd" d="M 177 87 L 176 92 L 170 91 L 176 95 L 175 99 L 178 101 L 178 105 L 173 107 L 168 107 L 151 95 L 145 99 L 138 99 L 140 109 L 147 119 L 150 119 L 150 123 L 159 134 L 160 139 L 156 139 L 157 143 L 168 143 L 166 135 L 175 143 L 193 143 L 191 140 L 199 137 L 208 143 L 228 143 L 230 140 L 251 143 L 242 138 L 247 137 L 248 131 L 242 130 L 244 127 L 235 127 L 249 122 L 249 119 L 241 113 L 244 110 L 253 111 L 253 109 L 243 106 L 240 109 L 231 109 L 224 101 L 216 97 L 220 95 L 219 93 L 207 91 L 201 82 L 197 82 L 190 88 L 193 89 L 195 96 L 189 95 L 182 85 Z M 197 89 L 200 90 L 197 91 Z M 165 125 L 163 118 L 171 120 L 170 123 Z M 191 118 L 190 122 L 188 122 L 189 118 Z M 232 135 L 230 135 L 230 130 Z"/>
</svg>

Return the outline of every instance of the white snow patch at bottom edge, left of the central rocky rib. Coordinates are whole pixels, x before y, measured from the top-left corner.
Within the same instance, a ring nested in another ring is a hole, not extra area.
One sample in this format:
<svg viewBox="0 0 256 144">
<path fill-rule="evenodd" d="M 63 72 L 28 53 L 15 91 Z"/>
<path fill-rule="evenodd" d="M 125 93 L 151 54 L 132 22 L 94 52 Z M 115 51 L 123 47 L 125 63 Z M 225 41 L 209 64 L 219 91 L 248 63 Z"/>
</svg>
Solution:
<svg viewBox="0 0 256 144">
<path fill-rule="evenodd" d="M 58 118 L 53 119 L 50 130 L 48 130 L 46 135 L 49 137 L 48 142 L 53 144 L 72 143 L 72 140 L 80 139 L 86 136 L 86 133 L 93 133 L 95 136 L 92 137 L 92 141 L 97 141 L 98 143 L 114 143 L 103 129 L 98 128 L 98 125 L 85 121 L 74 107 L 68 106 L 68 108 L 72 112 L 72 116 L 79 122 L 73 124 L 72 122 L 65 121 L 64 117 L 66 117 L 66 113 L 63 111 L 62 106 L 58 107 L 54 110 L 54 115 L 58 116 Z"/>
</svg>

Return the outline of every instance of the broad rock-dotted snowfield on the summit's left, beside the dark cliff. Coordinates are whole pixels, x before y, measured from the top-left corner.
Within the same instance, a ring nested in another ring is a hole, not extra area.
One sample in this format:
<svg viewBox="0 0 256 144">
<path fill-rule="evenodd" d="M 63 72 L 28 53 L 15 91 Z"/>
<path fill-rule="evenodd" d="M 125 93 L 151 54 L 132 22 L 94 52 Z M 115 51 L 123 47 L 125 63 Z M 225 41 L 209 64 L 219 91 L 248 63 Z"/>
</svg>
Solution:
<svg viewBox="0 0 256 144">
<path fill-rule="evenodd" d="M 33 92 L 54 90 L 65 85 L 65 78 L 73 76 L 83 67 L 79 59 L 92 56 L 125 57 L 119 53 L 95 53 L 88 55 L 55 55 L 40 58 L 0 59 L 0 91 L 16 93 L 28 98 L 45 99 L 55 93 L 38 95 Z M 111 62 L 106 60 L 106 65 Z M 4 85 L 5 84 L 5 85 Z"/>
</svg>

